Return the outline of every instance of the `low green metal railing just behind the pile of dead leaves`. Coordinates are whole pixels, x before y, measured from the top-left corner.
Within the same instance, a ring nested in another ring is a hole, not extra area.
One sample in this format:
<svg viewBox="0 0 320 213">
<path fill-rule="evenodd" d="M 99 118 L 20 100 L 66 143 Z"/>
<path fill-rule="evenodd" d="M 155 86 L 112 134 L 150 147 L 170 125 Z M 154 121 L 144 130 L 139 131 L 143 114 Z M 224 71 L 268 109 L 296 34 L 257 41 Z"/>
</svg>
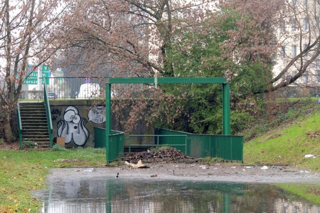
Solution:
<svg viewBox="0 0 320 213">
<path fill-rule="evenodd" d="M 156 144 L 131 144 L 131 138 L 132 137 L 154 137 L 156 139 Z M 170 144 L 159 144 L 159 138 L 160 137 L 169 137 L 170 140 L 173 143 Z M 172 137 L 183 137 L 184 138 L 184 143 L 179 143 L 179 144 L 174 144 L 175 140 L 172 140 Z M 184 147 L 184 153 L 186 153 L 187 150 L 187 145 L 186 145 L 186 135 L 129 135 L 129 137 L 127 138 L 128 142 L 129 142 L 129 153 L 131 152 L 131 147 L 160 147 L 160 146 L 169 146 L 169 147 Z M 180 149 L 179 149 L 180 150 Z M 183 152 L 183 151 L 182 151 Z"/>
</svg>

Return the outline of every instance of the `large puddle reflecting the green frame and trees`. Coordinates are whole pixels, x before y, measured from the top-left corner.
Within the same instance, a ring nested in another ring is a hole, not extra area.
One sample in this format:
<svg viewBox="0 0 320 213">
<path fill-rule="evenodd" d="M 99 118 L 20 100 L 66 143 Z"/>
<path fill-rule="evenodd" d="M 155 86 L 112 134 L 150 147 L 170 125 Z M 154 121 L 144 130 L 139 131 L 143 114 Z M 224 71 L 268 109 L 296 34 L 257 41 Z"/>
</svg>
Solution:
<svg viewBox="0 0 320 213">
<path fill-rule="evenodd" d="M 269 184 L 66 179 L 35 193 L 42 213 L 320 213 Z"/>
</svg>

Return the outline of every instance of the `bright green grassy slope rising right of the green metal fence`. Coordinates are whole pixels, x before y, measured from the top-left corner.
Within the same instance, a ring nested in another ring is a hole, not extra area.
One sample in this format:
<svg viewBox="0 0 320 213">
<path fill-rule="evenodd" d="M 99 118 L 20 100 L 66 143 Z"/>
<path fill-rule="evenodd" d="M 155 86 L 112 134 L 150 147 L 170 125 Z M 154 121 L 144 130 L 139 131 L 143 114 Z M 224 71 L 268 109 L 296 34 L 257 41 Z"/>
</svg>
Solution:
<svg viewBox="0 0 320 213">
<path fill-rule="evenodd" d="M 307 154 L 316 158 L 304 158 Z M 319 171 L 320 109 L 244 143 L 243 158 L 247 164 L 284 164 Z"/>
</svg>

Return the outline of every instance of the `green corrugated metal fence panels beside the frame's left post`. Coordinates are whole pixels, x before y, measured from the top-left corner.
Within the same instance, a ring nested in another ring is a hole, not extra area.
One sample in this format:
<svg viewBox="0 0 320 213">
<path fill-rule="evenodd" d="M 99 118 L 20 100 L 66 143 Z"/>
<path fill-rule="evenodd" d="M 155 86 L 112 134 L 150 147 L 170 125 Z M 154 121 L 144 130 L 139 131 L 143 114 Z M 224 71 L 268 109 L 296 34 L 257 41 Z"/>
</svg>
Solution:
<svg viewBox="0 0 320 213">
<path fill-rule="evenodd" d="M 105 129 L 94 127 L 94 148 L 105 148 Z M 124 133 L 111 130 L 109 148 L 106 149 L 107 163 L 123 157 Z"/>
</svg>

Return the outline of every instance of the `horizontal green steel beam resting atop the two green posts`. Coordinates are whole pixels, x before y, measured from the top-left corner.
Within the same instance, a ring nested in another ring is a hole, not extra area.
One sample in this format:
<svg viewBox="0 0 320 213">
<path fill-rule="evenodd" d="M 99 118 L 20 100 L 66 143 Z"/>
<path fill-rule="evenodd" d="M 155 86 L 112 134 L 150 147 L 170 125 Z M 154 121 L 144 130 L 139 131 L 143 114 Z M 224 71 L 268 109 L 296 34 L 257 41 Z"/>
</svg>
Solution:
<svg viewBox="0 0 320 213">
<path fill-rule="evenodd" d="M 226 83 L 226 78 L 179 78 L 179 77 L 157 77 L 157 78 L 109 78 L 109 83 L 132 83 L 132 84 L 181 84 L 181 83 L 196 83 L 196 84 L 212 84 Z"/>
</svg>

